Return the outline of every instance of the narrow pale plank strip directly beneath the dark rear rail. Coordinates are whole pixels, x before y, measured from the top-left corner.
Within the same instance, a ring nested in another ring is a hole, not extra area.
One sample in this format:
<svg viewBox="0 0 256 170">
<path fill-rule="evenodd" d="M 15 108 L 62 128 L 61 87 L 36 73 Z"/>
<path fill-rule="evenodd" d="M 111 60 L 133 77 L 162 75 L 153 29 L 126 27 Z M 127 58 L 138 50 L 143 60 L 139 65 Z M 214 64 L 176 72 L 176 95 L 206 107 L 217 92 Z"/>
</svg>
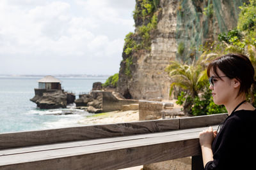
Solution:
<svg viewBox="0 0 256 170">
<path fill-rule="evenodd" d="M 213 127 L 216 129 L 217 127 Z M 134 136 L 124 136 L 122 138 L 103 138 L 103 139 L 90 139 L 86 141 L 74 141 L 68 143 L 58 143 L 58 144 L 51 144 L 51 145 L 40 145 L 40 146 L 31 146 L 31 147 L 24 147 L 24 148 L 13 148 L 7 150 L 0 150 L 0 157 L 3 155 L 13 155 L 17 153 L 28 153 L 28 152 L 39 152 L 44 150 L 56 150 L 61 148 L 72 148 L 72 147 L 80 147 L 80 146 L 89 146 L 89 145 L 100 145 L 104 143 L 113 143 L 118 141 L 132 141 L 135 139 L 146 139 L 146 138 L 161 138 L 163 136 L 175 136 L 177 134 L 187 135 L 190 132 L 200 132 L 205 127 L 195 128 L 195 129 L 184 129 L 179 131 L 170 131 L 170 132 L 158 132 L 152 134 L 139 134 Z"/>
</svg>

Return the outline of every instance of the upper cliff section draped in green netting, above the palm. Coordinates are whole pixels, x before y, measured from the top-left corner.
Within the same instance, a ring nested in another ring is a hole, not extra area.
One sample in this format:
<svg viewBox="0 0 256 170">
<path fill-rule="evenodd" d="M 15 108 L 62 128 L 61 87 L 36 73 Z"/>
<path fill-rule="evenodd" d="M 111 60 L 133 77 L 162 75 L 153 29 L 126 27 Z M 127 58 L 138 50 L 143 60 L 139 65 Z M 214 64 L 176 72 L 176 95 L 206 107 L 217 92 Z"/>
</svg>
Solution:
<svg viewBox="0 0 256 170">
<path fill-rule="evenodd" d="M 218 34 L 237 25 L 239 6 L 247 0 L 180 0 L 177 3 L 176 41 L 184 51 L 176 53 L 183 62 L 193 62 L 202 52 L 201 45 L 218 40 Z M 223 10 L 225 9 L 225 10 Z"/>
</svg>

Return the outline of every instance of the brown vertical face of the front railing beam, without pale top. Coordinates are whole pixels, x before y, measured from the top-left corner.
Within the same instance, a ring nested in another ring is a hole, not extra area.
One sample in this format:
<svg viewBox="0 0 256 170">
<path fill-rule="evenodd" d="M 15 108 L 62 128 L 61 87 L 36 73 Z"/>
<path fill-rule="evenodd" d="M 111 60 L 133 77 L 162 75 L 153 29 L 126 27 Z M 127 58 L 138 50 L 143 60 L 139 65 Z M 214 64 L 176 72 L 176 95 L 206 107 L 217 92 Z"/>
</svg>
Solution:
<svg viewBox="0 0 256 170">
<path fill-rule="evenodd" d="M 195 140 L 163 145 L 125 148 L 109 152 L 45 159 L 26 164 L 3 166 L 1 169 L 120 169 L 193 155 L 198 150 Z M 147 152 L 145 152 L 147 151 Z M 54 165 L 54 166 L 52 166 Z"/>
</svg>

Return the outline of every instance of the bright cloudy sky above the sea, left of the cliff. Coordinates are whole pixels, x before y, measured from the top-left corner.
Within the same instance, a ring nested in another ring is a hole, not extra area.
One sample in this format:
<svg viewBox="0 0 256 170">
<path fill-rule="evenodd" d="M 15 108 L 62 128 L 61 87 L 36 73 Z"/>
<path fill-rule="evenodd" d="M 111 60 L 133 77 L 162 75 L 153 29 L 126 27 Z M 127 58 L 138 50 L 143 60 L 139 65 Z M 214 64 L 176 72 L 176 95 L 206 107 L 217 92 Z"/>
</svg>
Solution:
<svg viewBox="0 0 256 170">
<path fill-rule="evenodd" d="M 0 74 L 118 73 L 135 0 L 1 0 Z"/>
</svg>

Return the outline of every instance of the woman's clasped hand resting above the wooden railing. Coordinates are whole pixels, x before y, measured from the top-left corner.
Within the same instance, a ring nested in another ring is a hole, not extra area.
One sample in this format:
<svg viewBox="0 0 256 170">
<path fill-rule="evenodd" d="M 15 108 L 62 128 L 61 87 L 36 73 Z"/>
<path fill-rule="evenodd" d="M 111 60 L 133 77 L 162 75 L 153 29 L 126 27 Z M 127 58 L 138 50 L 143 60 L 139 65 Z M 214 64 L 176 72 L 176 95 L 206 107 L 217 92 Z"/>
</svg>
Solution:
<svg viewBox="0 0 256 170">
<path fill-rule="evenodd" d="M 212 141 L 217 135 L 217 131 L 213 131 L 212 127 L 199 133 L 199 141 L 201 146 L 209 146 L 211 148 Z"/>
</svg>

